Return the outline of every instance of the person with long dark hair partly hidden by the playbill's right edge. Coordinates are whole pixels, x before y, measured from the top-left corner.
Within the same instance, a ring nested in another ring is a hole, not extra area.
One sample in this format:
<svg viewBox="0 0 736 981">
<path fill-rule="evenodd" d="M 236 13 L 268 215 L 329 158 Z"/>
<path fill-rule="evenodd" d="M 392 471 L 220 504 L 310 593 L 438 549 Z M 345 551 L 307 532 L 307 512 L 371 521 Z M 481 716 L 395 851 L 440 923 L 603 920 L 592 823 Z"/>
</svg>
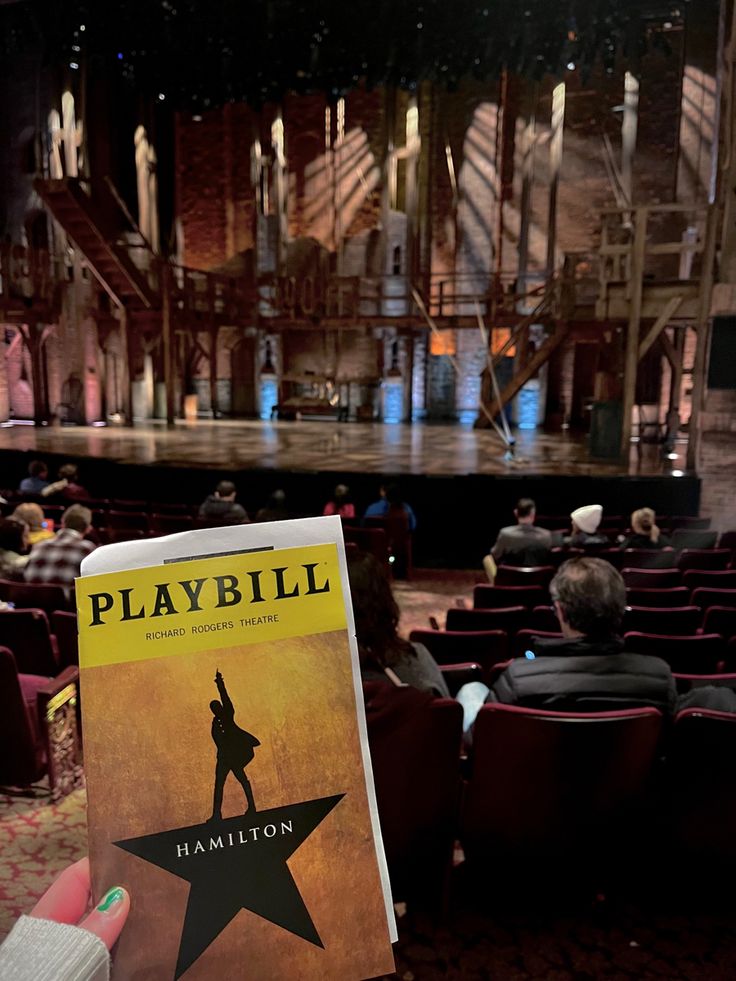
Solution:
<svg viewBox="0 0 736 981">
<path fill-rule="evenodd" d="M 399 608 L 381 563 L 367 552 L 351 552 L 347 561 L 363 680 L 411 685 L 449 698 L 427 648 L 399 637 Z"/>
</svg>

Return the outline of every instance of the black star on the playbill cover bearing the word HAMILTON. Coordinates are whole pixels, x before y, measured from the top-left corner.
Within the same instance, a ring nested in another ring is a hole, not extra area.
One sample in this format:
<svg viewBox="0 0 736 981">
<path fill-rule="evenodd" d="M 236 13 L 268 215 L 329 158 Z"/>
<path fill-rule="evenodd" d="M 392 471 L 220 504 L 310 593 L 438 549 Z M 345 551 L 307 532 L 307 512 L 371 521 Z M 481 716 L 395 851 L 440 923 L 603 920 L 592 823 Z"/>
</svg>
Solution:
<svg viewBox="0 0 736 981">
<path fill-rule="evenodd" d="M 175 978 L 181 977 L 240 909 L 324 946 L 286 862 L 344 796 L 320 797 L 114 842 L 191 883 Z"/>
</svg>

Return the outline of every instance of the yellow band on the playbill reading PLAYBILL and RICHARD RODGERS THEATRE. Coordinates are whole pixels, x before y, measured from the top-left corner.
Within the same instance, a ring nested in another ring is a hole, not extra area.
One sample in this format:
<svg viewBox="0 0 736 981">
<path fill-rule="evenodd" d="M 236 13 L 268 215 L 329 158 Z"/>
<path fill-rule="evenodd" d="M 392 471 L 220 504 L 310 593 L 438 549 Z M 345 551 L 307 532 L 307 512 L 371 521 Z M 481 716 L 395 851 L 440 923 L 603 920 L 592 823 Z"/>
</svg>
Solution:
<svg viewBox="0 0 736 981">
<path fill-rule="evenodd" d="M 333 544 L 259 550 L 77 580 L 82 668 L 345 627 Z"/>
</svg>

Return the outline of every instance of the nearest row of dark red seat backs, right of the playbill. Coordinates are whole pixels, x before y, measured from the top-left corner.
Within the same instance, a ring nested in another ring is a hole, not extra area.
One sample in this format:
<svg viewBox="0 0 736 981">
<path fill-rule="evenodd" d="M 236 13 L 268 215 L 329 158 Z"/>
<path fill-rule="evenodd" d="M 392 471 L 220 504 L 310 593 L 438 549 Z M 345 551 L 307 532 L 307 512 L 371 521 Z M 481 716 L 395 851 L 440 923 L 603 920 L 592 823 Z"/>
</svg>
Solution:
<svg viewBox="0 0 736 981">
<path fill-rule="evenodd" d="M 568 714 L 485 705 L 460 805 L 460 706 L 410 688 L 364 688 L 394 900 L 441 894 L 458 832 L 471 861 L 497 861 L 505 849 L 590 858 L 607 850 L 608 831 L 638 832 L 662 747 L 656 709 Z M 734 856 L 736 717 L 688 709 L 667 746 L 671 827 L 712 849 L 715 817 L 718 845 Z"/>
</svg>

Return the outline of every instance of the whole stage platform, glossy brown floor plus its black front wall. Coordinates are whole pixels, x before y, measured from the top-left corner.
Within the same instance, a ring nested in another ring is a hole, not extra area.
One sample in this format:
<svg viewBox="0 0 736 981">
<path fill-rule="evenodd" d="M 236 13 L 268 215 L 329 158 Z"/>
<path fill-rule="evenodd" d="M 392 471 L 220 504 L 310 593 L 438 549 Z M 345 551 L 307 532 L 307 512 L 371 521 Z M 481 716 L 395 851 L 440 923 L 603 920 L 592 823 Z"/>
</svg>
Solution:
<svg viewBox="0 0 736 981">
<path fill-rule="evenodd" d="M 417 514 L 418 564 L 477 567 L 495 532 L 513 520 L 520 496 L 544 514 L 599 503 L 609 514 L 649 506 L 697 514 L 700 480 L 684 472 L 684 444 L 666 459 L 652 444 L 632 444 L 629 465 L 591 460 L 585 439 L 518 431 L 514 459 L 493 432 L 467 426 L 200 420 L 172 428 L 0 428 L 0 486 L 18 486 L 30 460 L 52 475 L 79 463 L 95 497 L 196 503 L 231 477 L 249 513 L 282 488 L 290 511 L 320 514 L 335 483 L 350 486 L 361 511 L 382 481 L 398 479 Z"/>
</svg>

